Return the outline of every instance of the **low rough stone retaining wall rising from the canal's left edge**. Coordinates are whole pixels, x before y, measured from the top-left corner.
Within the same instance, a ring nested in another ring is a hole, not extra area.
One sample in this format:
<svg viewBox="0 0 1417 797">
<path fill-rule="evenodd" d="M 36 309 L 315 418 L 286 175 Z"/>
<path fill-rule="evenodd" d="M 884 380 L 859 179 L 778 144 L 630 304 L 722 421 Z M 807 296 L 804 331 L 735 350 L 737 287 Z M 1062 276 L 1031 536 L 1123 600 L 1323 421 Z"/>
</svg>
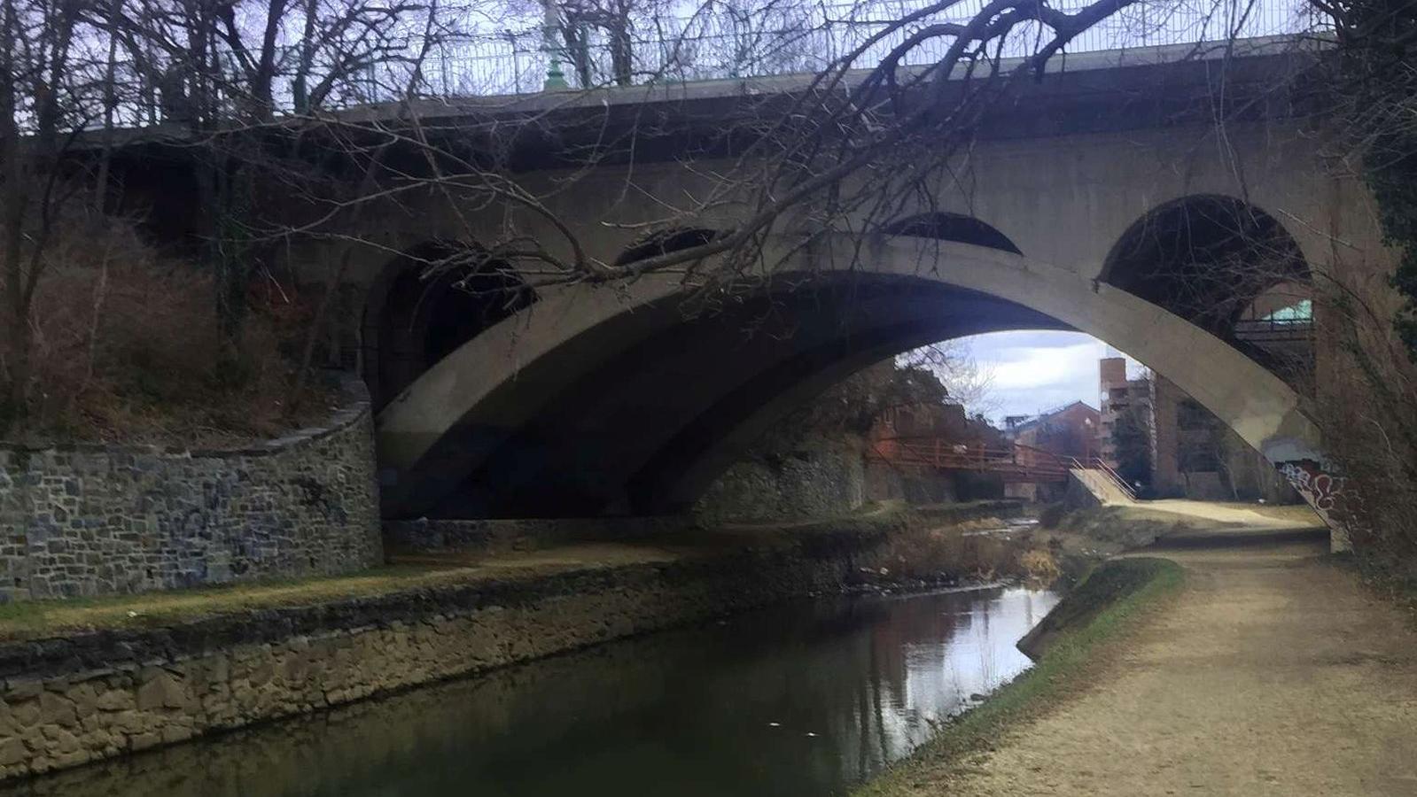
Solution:
<svg viewBox="0 0 1417 797">
<path fill-rule="evenodd" d="M 837 589 L 894 522 L 676 563 L 0 644 L 0 779 Z"/>
</svg>

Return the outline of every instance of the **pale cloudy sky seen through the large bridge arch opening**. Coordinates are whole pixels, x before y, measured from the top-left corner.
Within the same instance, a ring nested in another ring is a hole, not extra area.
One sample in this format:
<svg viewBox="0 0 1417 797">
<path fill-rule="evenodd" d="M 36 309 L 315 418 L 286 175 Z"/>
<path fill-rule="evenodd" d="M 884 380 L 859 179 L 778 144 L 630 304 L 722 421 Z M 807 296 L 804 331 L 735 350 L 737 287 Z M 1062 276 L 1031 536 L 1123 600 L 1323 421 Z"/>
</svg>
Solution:
<svg viewBox="0 0 1417 797">
<path fill-rule="evenodd" d="M 1095 408 L 1097 361 L 1119 355 L 1083 333 L 992 333 L 961 343 L 993 374 L 985 412 L 999 426 L 1006 415 L 1037 415 L 1074 401 Z"/>
</svg>

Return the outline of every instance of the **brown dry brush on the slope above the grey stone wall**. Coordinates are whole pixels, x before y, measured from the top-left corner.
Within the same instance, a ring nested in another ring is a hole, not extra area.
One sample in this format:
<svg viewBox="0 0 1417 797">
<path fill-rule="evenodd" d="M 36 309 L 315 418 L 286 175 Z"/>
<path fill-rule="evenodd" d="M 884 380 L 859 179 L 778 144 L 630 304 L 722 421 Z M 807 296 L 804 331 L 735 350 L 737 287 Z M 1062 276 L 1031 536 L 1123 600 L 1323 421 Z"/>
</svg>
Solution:
<svg viewBox="0 0 1417 797">
<path fill-rule="evenodd" d="M 48 259 L 20 442 L 220 446 L 327 413 L 326 395 L 303 402 L 305 418 L 282 406 L 292 377 L 282 341 L 305 320 L 289 293 L 252 294 L 232 350 L 222 345 L 210 275 L 159 256 L 129 224 L 68 219 Z"/>
</svg>

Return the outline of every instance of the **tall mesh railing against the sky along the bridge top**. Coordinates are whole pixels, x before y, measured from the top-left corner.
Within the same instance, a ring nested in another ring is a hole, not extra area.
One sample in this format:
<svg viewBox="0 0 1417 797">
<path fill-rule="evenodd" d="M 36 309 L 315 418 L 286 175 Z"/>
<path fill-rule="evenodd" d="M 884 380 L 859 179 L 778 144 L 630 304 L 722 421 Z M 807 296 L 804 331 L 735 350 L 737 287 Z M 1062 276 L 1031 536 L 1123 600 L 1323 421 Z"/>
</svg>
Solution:
<svg viewBox="0 0 1417 797">
<path fill-rule="evenodd" d="M 966 21 L 985 3 L 986 0 L 965 0 L 947 13 L 891 31 L 874 42 L 853 67 L 874 67 L 886 52 L 920 28 Z M 1063 11 L 1073 11 L 1084 4 L 1084 0 L 1053 3 Z M 571 88 L 816 72 L 886 30 L 887 20 L 925 6 L 925 0 L 803 6 L 801 16 L 791 21 L 769 18 L 767 23 L 735 18 L 731 14 L 656 17 L 656 35 L 629 38 L 631 69 L 622 75 L 616 74 L 614 65 L 615 47 L 594 28 L 584 28 L 581 44 L 572 50 L 564 47 L 558 35 L 547 37 L 541 27 L 530 25 L 519 31 L 475 35 L 439 45 L 431 67 L 424 72 L 427 89 L 444 96 L 538 92 L 553 59 L 558 62 Z M 774 25 L 774 21 L 778 24 Z M 1294 35 L 1322 27 L 1312 4 L 1295 0 L 1139 3 L 1084 31 L 1068 44 L 1067 52 Z M 1036 40 L 1026 35 L 1027 31 L 1020 33 L 1024 35 L 1015 35 L 1005 42 L 1002 57 L 1019 57 L 1032 51 Z M 948 45 L 947 40 L 930 40 L 914 48 L 904 65 L 934 62 Z M 623 42 L 621 50 L 625 50 Z M 380 85 L 383 81 L 371 82 L 376 92 Z"/>
</svg>

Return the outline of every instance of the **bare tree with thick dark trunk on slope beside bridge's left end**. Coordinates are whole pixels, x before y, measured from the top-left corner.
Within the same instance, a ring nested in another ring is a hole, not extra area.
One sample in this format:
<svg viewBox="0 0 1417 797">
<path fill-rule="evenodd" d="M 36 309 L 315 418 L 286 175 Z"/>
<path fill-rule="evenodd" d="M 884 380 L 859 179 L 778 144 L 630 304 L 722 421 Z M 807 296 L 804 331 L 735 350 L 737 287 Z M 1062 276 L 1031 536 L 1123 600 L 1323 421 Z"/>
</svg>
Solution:
<svg viewBox="0 0 1417 797">
<path fill-rule="evenodd" d="M 211 225 L 208 262 L 235 341 L 247 285 L 265 259 L 252 234 L 254 185 L 309 173 L 269 149 L 276 115 L 417 91 L 429 48 L 453 34 L 436 1 L 412 0 L 132 0 L 101 14 L 140 78 L 160 86 L 164 117 L 201 143 L 190 151 Z"/>
</svg>

